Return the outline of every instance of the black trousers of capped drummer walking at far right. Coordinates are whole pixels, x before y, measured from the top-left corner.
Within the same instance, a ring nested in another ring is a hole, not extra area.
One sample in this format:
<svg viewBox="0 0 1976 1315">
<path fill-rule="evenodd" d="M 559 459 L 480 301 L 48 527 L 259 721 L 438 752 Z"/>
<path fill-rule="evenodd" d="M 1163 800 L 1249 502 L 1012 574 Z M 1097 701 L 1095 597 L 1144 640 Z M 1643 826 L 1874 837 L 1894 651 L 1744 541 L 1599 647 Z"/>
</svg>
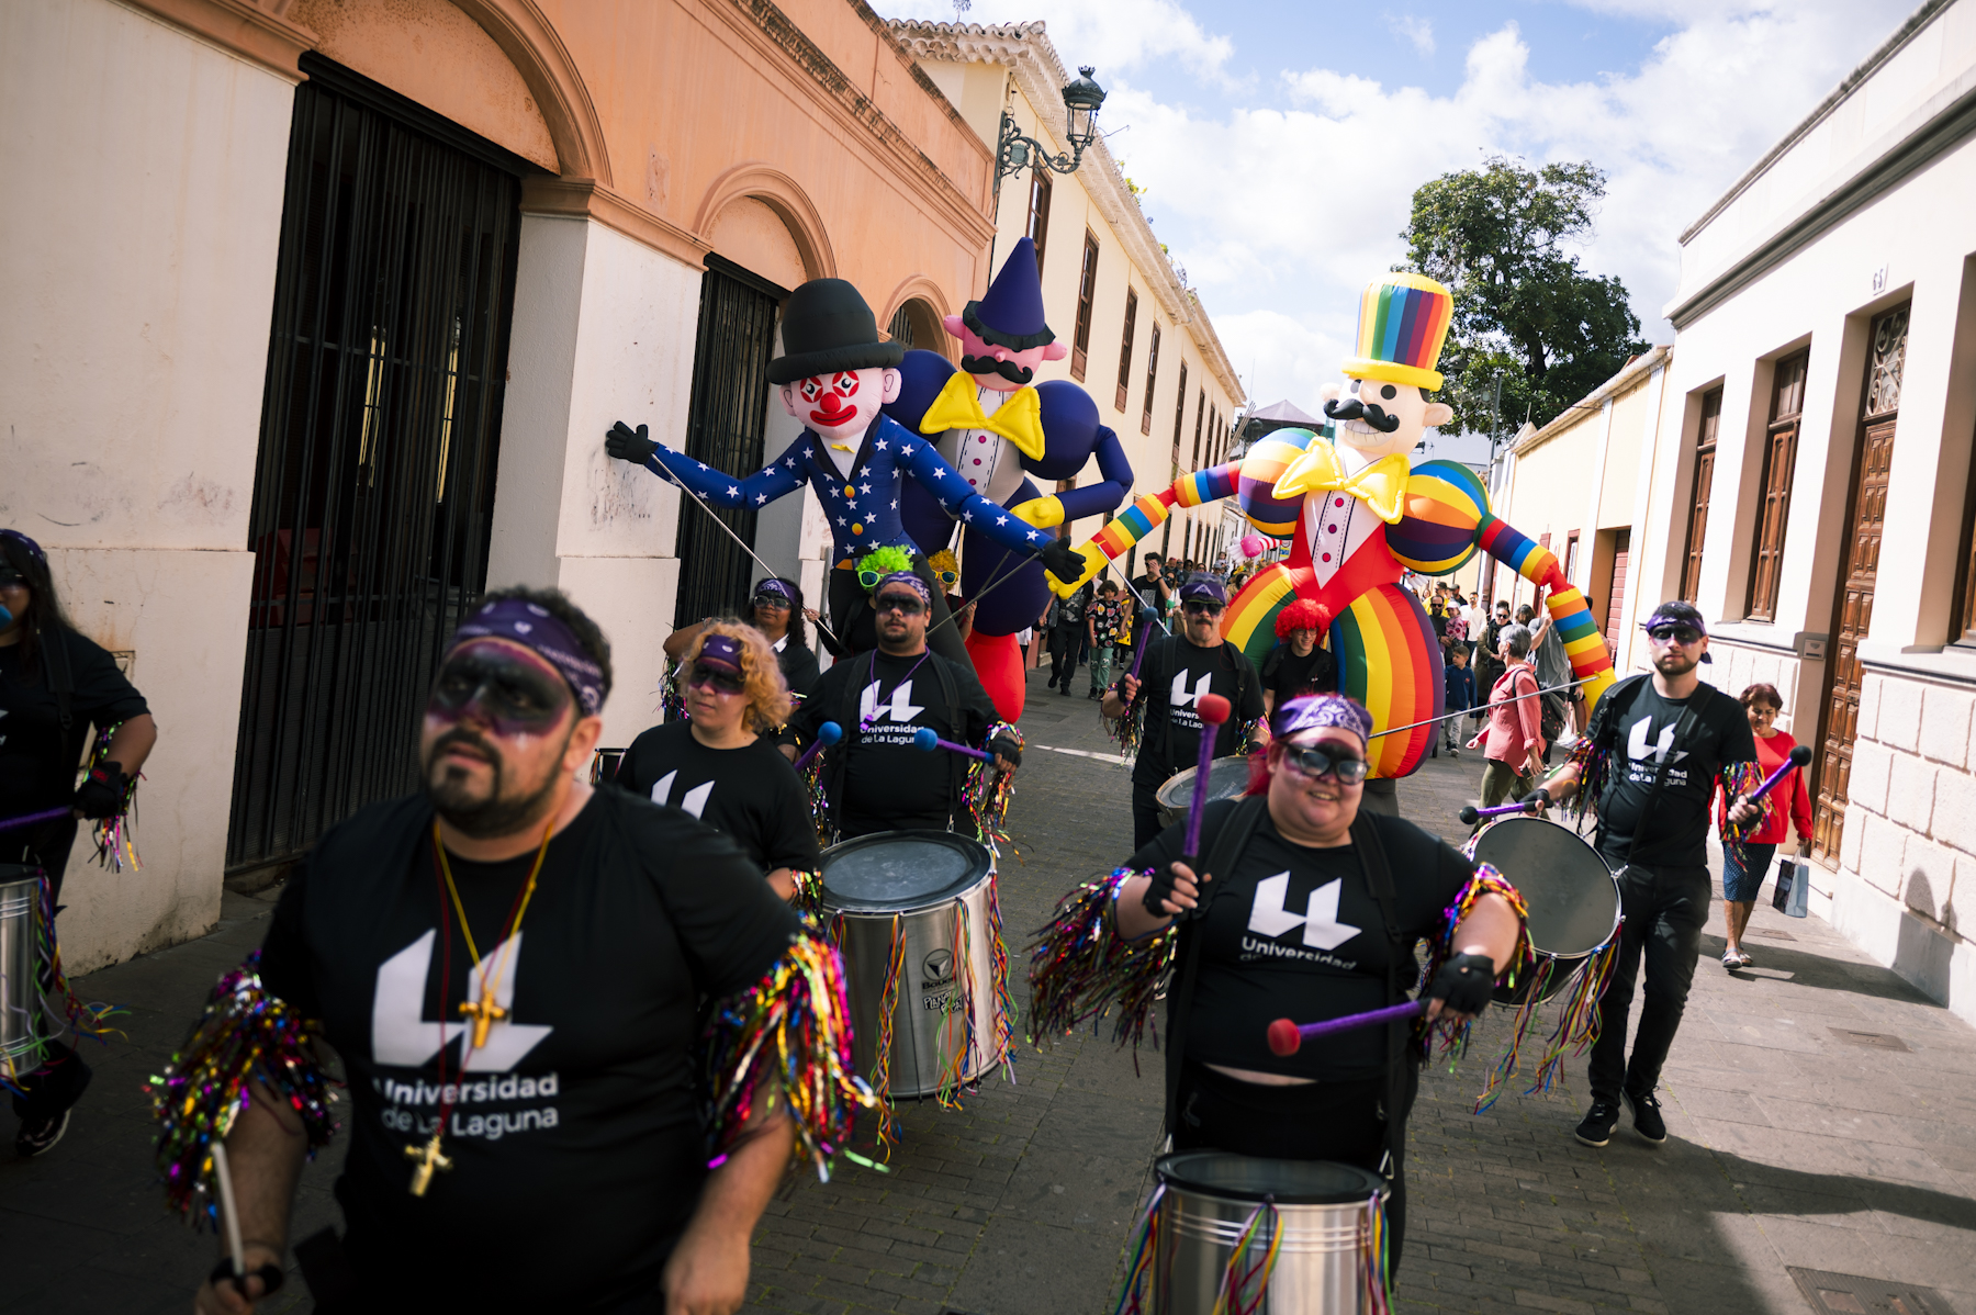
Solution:
<svg viewBox="0 0 1976 1315">
<path fill-rule="evenodd" d="M 1646 1096 L 1660 1084 L 1660 1066 L 1668 1062 L 1688 1009 L 1688 987 L 1695 981 L 1701 926 L 1709 920 L 1709 869 L 1628 863 L 1618 877 L 1618 898 L 1626 922 L 1612 977 L 1599 995 L 1599 1041 L 1587 1068 L 1593 1100 L 1610 1106 L 1620 1094 Z M 1646 997 L 1628 1060 L 1626 1009 L 1640 960 L 1646 960 Z"/>
</svg>

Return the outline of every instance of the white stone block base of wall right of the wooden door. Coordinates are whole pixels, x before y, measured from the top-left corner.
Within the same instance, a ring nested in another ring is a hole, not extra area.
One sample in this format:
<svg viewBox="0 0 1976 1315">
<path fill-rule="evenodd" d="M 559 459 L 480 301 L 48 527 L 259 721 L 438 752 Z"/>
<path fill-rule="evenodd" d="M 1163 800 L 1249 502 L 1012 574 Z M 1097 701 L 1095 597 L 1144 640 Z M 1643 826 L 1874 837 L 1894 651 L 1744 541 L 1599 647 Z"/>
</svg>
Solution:
<svg viewBox="0 0 1976 1315">
<path fill-rule="evenodd" d="M 1818 912 L 1976 1021 L 1976 691 L 1867 673 L 1830 881 Z"/>
</svg>

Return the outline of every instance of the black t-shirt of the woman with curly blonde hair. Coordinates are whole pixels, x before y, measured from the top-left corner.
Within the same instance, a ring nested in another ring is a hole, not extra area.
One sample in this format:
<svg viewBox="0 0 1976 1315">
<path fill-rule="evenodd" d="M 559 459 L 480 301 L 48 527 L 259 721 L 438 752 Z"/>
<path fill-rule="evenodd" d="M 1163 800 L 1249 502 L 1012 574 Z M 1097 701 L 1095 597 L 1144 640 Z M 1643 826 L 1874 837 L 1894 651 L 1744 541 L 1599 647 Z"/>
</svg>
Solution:
<svg viewBox="0 0 1976 1315">
<path fill-rule="evenodd" d="M 666 723 L 630 742 L 615 780 L 733 837 L 765 873 L 814 873 L 822 861 L 802 780 L 769 736 L 745 748 L 707 748 L 692 723 Z"/>
</svg>

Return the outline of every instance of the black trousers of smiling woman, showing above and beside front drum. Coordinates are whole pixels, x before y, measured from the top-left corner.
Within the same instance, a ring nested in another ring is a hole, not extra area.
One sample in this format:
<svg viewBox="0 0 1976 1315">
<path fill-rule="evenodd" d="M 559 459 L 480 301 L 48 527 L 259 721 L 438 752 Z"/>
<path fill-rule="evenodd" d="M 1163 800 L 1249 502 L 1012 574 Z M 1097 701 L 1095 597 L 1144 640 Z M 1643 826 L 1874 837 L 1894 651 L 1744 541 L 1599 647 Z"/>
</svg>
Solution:
<svg viewBox="0 0 1976 1315">
<path fill-rule="evenodd" d="M 1421 1092 L 1421 1070 L 1407 1064 L 1399 1108 L 1385 1218 L 1391 1226 L 1387 1262 L 1399 1274 L 1407 1242 L 1407 1116 Z M 1383 1173 L 1385 1078 L 1259 1086 L 1186 1060 L 1180 1074 L 1176 1151 L 1231 1151 L 1261 1159 L 1328 1159 Z"/>
</svg>

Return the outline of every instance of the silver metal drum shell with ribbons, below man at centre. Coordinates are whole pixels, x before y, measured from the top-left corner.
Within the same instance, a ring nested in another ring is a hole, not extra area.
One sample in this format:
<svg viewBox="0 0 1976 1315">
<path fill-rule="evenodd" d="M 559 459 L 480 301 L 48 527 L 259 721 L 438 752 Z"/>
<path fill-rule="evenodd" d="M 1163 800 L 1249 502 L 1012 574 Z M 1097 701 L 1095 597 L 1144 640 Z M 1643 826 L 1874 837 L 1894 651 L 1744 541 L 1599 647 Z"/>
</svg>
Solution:
<svg viewBox="0 0 1976 1315">
<path fill-rule="evenodd" d="M 935 839 L 976 851 L 980 873 L 958 892 L 937 898 L 903 898 L 891 906 L 856 904 L 830 890 L 832 859 L 901 839 Z M 877 1039 L 885 973 L 891 967 L 891 926 L 897 916 L 905 938 L 905 964 L 899 975 L 899 997 L 893 1005 L 891 1076 L 879 1096 L 909 1100 L 933 1096 L 941 1088 L 941 1005 L 958 989 L 958 975 L 948 971 L 929 975 L 929 962 L 947 954 L 954 962 L 954 904 L 968 910 L 968 981 L 974 995 L 976 1054 L 962 1070 L 972 1082 L 998 1062 L 1000 999 L 994 989 L 994 928 L 988 918 L 990 889 L 996 879 L 994 851 L 978 841 L 950 831 L 877 831 L 842 841 L 824 851 L 820 904 L 832 924 L 838 950 L 844 956 L 844 983 L 852 1005 L 852 1062 L 860 1076 L 871 1080 L 877 1068 Z"/>
</svg>

